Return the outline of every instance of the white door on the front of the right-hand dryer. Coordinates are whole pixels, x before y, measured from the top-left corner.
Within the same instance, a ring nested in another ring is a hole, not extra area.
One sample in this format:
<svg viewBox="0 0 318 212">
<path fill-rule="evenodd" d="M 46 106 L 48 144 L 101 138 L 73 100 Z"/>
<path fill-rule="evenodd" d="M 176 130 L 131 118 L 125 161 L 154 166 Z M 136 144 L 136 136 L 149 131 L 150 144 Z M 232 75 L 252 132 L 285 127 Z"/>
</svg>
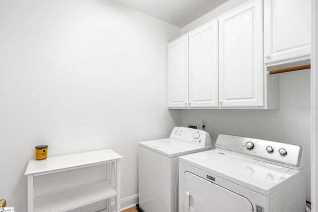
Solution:
<svg viewBox="0 0 318 212">
<path fill-rule="evenodd" d="M 244 197 L 190 172 L 184 173 L 184 212 L 252 212 Z"/>
</svg>

